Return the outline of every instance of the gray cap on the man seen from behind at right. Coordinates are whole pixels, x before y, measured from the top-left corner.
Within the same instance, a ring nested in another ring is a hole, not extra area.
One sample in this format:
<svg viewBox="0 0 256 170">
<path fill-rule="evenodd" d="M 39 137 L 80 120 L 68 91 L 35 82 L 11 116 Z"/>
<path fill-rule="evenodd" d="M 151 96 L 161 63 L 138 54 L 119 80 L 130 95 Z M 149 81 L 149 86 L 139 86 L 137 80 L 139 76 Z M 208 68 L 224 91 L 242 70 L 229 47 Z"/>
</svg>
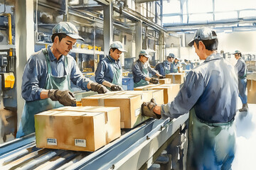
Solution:
<svg viewBox="0 0 256 170">
<path fill-rule="evenodd" d="M 215 30 L 208 27 L 202 27 L 196 30 L 193 40 L 191 40 L 191 42 L 189 42 L 188 45 L 193 46 L 194 40 L 213 40 L 216 38 L 217 34 Z"/>
</svg>

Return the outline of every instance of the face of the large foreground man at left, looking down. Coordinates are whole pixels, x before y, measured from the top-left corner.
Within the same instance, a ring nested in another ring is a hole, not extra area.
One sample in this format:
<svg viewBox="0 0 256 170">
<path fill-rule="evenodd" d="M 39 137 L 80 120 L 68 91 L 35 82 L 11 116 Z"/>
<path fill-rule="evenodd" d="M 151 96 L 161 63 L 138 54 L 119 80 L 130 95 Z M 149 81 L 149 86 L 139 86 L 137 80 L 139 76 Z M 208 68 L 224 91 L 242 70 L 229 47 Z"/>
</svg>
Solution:
<svg viewBox="0 0 256 170">
<path fill-rule="evenodd" d="M 66 36 L 61 41 L 59 41 L 58 37 L 56 38 L 54 42 L 56 43 L 56 48 L 61 55 L 68 55 L 68 52 L 72 50 L 73 45 L 75 45 L 75 42 L 77 41 L 74 38 L 70 38 L 70 36 Z"/>
</svg>

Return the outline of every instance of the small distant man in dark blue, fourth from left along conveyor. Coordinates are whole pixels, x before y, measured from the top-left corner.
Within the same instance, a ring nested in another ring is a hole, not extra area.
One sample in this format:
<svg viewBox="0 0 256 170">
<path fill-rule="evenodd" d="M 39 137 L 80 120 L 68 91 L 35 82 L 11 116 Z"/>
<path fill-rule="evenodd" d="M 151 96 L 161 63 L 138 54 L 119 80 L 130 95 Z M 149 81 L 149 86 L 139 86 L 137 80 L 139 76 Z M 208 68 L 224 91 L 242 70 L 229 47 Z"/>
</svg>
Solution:
<svg viewBox="0 0 256 170">
<path fill-rule="evenodd" d="M 165 76 L 166 74 L 174 72 L 174 57 L 173 53 L 170 53 L 164 62 L 160 62 L 156 64 L 156 71 L 158 71 L 161 75 Z"/>
</svg>

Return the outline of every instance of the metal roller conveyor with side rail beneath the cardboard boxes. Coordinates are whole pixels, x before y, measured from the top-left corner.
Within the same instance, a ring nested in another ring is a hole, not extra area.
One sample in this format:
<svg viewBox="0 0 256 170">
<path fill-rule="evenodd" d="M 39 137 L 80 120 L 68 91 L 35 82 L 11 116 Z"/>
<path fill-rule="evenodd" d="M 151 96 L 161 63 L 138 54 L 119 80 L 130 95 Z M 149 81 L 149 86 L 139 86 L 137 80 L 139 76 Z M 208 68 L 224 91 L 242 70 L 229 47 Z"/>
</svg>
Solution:
<svg viewBox="0 0 256 170">
<path fill-rule="evenodd" d="M 39 149 L 31 134 L 0 145 L 0 169 L 139 169 L 187 119 L 146 120 L 95 152 Z"/>
</svg>

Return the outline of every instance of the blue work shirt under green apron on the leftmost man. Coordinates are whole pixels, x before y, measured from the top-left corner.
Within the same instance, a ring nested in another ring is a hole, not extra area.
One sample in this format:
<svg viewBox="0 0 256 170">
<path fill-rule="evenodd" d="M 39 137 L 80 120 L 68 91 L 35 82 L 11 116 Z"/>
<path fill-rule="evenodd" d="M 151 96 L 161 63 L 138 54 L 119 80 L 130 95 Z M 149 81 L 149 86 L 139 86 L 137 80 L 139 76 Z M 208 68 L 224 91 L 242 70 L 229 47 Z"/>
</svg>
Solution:
<svg viewBox="0 0 256 170">
<path fill-rule="evenodd" d="M 55 77 L 63 77 L 66 75 L 67 73 L 64 69 L 65 57 L 62 55 L 57 61 L 53 52 L 50 50 L 50 45 L 47 50 L 50 57 L 51 74 Z M 73 57 L 70 55 L 67 55 L 67 57 L 68 67 L 71 69 L 69 77 L 70 81 L 79 86 L 82 90 L 89 91 L 89 89 L 87 89 L 87 83 L 90 79 L 87 79 L 82 75 L 82 72 L 80 72 Z M 47 74 L 48 67 L 46 56 L 43 55 L 42 50 L 33 53 L 26 63 L 22 77 L 21 95 L 25 101 L 37 101 L 41 99 L 40 94 L 46 86 Z"/>
</svg>

